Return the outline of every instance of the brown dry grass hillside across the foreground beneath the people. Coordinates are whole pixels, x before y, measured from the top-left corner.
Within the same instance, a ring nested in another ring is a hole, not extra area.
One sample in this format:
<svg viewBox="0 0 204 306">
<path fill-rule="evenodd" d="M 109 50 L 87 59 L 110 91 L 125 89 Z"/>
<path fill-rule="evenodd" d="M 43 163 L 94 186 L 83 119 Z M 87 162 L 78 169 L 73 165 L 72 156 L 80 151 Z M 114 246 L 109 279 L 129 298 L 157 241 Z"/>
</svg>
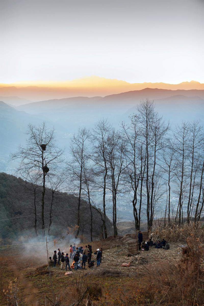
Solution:
<svg viewBox="0 0 204 306">
<path fill-rule="evenodd" d="M 103 249 L 100 267 L 86 267 L 68 276 L 60 266 L 51 267 L 49 274 L 44 243 L 2 246 L 1 305 L 201 306 L 204 304 L 202 234 L 199 230 L 184 232 L 176 241 L 170 241 L 169 250 L 151 247 L 149 252 L 140 250 L 132 257 L 127 257 L 125 241 L 127 237 L 134 241 L 135 235 L 94 241 L 90 243 L 93 251 Z M 143 238 L 148 238 L 147 233 L 143 233 Z M 52 241 L 48 243 L 48 255 L 52 256 L 58 247 L 61 251 L 69 250 L 68 243 Z M 121 267 L 128 262 L 129 267 Z"/>
</svg>

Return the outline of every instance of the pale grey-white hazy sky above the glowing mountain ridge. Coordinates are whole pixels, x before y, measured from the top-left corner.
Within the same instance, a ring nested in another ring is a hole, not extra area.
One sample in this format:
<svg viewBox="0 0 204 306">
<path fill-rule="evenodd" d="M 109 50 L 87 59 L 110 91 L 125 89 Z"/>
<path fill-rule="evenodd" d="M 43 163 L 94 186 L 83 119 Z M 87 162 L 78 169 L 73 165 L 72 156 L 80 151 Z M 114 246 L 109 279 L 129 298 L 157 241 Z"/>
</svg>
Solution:
<svg viewBox="0 0 204 306">
<path fill-rule="evenodd" d="M 1 0 L 0 82 L 204 82 L 204 1 Z"/>
</svg>

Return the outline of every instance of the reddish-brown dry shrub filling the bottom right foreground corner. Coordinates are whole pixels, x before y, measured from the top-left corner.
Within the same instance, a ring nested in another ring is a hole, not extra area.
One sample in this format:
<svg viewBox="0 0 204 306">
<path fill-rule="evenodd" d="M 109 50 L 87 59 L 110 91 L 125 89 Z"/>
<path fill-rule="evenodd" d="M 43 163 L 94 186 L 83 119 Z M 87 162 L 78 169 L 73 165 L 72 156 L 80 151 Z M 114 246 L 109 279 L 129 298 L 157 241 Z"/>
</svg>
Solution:
<svg viewBox="0 0 204 306">
<path fill-rule="evenodd" d="M 194 234 L 195 231 L 187 237 L 187 247 L 183 248 L 178 263 L 160 263 L 155 269 L 148 270 L 138 296 L 144 297 L 149 304 L 204 305 L 204 246 Z M 143 301 L 143 298 L 139 299 L 137 304 L 143 304 Z"/>
</svg>

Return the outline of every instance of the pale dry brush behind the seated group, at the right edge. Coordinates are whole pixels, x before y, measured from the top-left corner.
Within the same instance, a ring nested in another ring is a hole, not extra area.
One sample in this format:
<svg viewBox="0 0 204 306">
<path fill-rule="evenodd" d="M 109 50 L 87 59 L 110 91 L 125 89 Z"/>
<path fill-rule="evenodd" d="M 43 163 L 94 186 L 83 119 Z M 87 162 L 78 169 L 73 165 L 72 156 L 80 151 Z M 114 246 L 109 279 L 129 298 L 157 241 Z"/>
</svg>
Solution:
<svg viewBox="0 0 204 306">
<path fill-rule="evenodd" d="M 194 224 L 184 224 L 183 227 L 179 227 L 177 224 L 172 226 L 158 227 L 154 230 L 154 240 L 165 239 L 171 242 L 186 241 L 186 237 L 194 235 L 199 237 L 201 241 L 204 241 L 204 230 L 195 229 Z"/>
</svg>

